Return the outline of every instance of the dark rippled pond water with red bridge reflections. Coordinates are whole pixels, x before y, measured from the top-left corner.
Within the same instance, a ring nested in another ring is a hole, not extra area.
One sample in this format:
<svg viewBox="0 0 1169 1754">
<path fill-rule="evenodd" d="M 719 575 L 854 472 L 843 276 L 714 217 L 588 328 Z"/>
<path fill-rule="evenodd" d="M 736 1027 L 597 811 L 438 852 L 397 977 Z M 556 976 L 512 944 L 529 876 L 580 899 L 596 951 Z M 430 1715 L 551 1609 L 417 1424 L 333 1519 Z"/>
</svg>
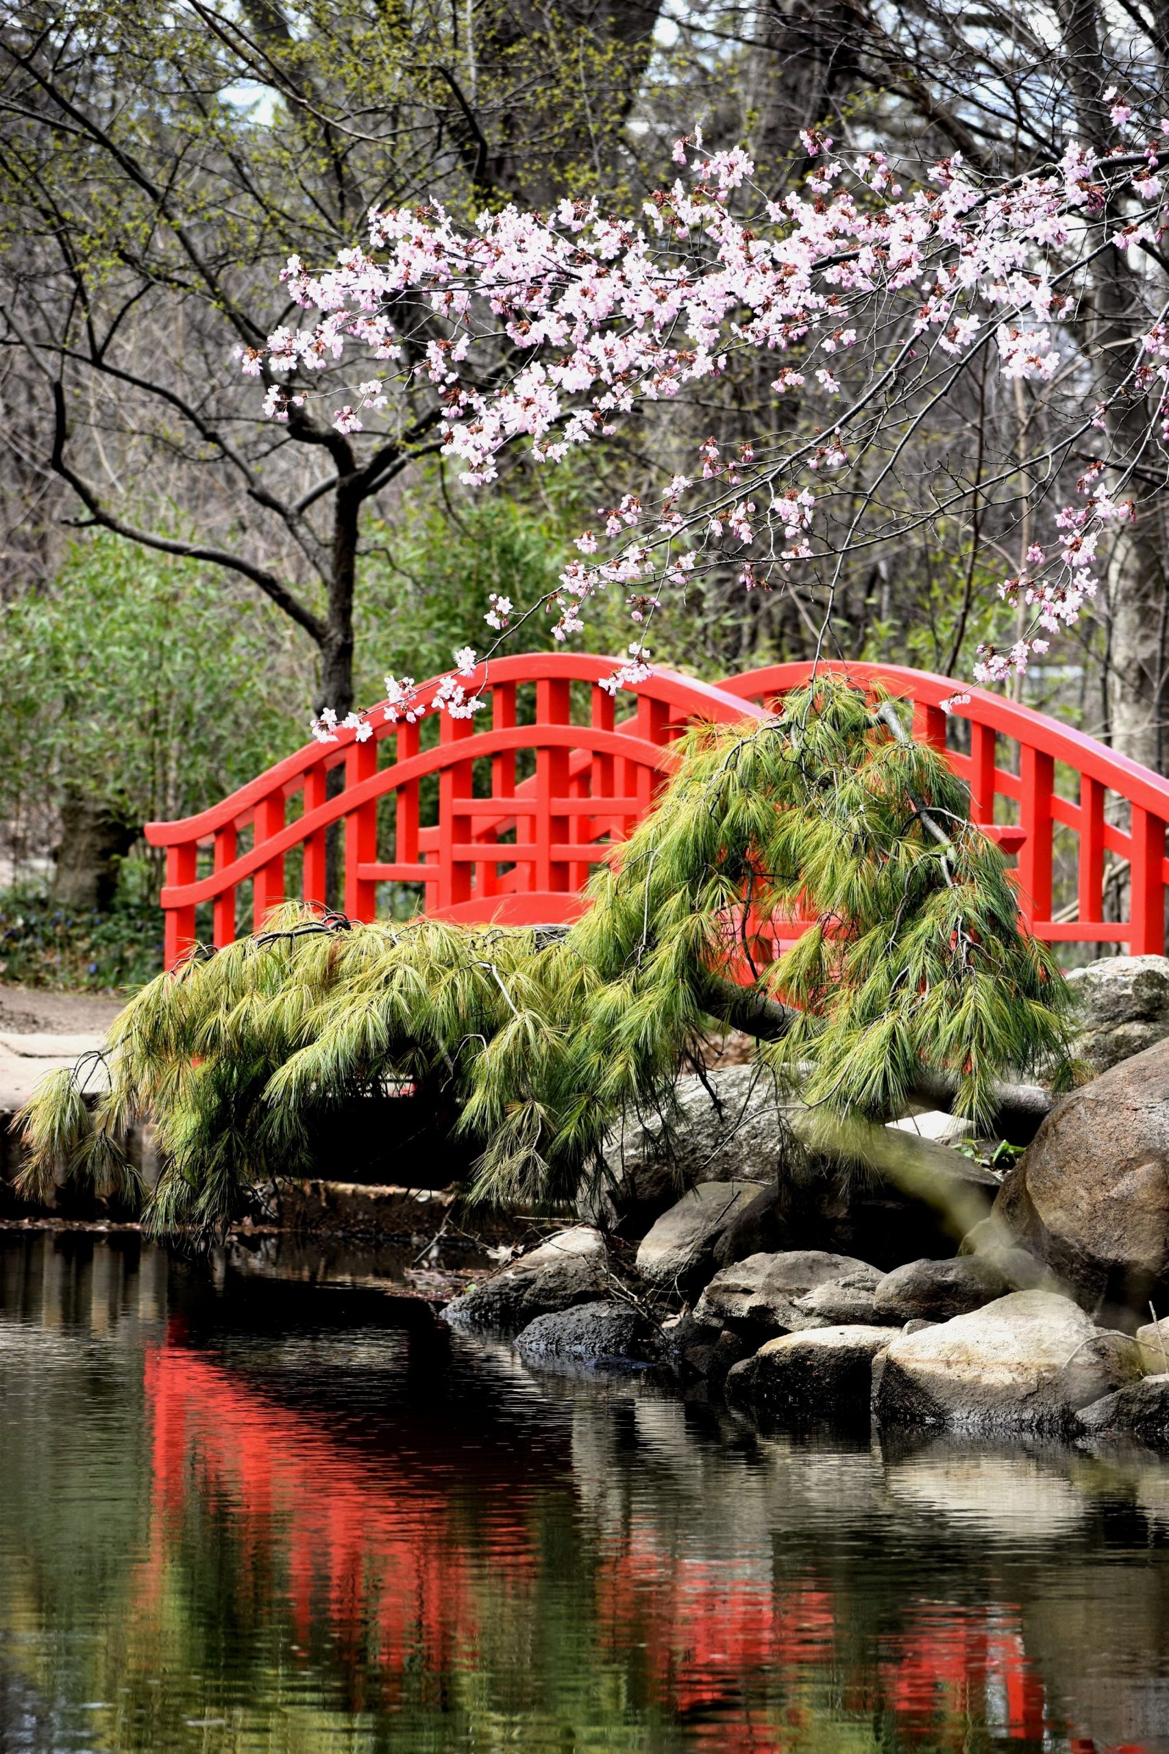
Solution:
<svg viewBox="0 0 1169 1754">
<path fill-rule="evenodd" d="M 4 1754 L 1169 1750 L 1169 1465 L 758 1435 L 349 1265 L 0 1237 Z"/>
</svg>

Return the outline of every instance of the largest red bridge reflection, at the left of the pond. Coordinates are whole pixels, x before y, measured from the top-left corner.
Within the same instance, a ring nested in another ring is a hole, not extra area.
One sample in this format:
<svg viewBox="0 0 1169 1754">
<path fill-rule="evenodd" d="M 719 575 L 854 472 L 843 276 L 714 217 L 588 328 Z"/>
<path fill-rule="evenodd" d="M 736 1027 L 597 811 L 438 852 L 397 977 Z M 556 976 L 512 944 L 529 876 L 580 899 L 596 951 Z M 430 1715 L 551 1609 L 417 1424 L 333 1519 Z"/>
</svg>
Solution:
<svg viewBox="0 0 1169 1754">
<path fill-rule="evenodd" d="M 274 1405 L 179 1345 L 147 1352 L 146 1396 L 156 1510 L 147 1589 L 161 1584 L 165 1531 L 197 1494 L 230 1507 L 246 1582 L 284 1556 L 298 1643 L 326 1624 L 355 1680 L 374 1661 L 386 1673 L 409 1665 L 437 1687 L 467 1661 L 477 1615 L 465 1542 L 449 1496 L 425 1472 L 393 1456 L 367 1459 L 323 1421 Z M 498 1505 L 476 1529 L 481 1558 L 513 1587 L 532 1572 L 518 1508 Z"/>
</svg>

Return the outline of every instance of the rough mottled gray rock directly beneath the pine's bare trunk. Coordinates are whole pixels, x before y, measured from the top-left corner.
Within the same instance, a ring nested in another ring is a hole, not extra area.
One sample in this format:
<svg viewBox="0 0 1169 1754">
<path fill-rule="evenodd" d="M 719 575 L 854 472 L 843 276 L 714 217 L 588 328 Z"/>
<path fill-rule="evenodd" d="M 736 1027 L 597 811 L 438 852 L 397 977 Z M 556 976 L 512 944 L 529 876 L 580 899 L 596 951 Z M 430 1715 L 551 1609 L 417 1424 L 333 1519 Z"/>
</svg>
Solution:
<svg viewBox="0 0 1169 1754">
<path fill-rule="evenodd" d="M 786 1173 L 795 1149 L 774 1077 L 718 1066 L 674 1086 L 678 1114 L 627 1116 L 604 1145 L 604 1175 L 577 1201 L 590 1223 L 632 1235 L 697 1182 L 755 1182 Z"/>
</svg>

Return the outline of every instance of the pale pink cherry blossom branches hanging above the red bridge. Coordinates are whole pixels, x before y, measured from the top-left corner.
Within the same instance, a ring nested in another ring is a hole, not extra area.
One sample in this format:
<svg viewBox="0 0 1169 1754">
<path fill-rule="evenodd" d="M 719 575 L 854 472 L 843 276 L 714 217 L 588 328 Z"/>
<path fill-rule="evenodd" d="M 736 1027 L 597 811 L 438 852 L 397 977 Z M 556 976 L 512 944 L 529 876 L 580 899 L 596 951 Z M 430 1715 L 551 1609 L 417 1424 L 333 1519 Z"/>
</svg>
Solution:
<svg viewBox="0 0 1169 1754">
<path fill-rule="evenodd" d="M 1130 114 L 1123 100 L 1113 102 L 1120 142 L 1102 156 L 1069 146 L 1044 174 L 993 179 L 971 175 L 955 154 L 907 195 L 883 153 L 864 153 L 846 167 L 830 156 L 830 140 L 806 133 L 813 161 L 806 191 L 781 202 L 757 191 L 760 210 L 749 223 L 739 209 L 751 191 L 751 161 L 741 149 L 702 158 L 697 135 L 674 153 L 688 181 L 679 177 L 646 202 L 648 225 L 567 200 L 551 217 L 509 207 L 483 214 L 472 228 L 456 226 L 437 205 L 376 210 L 370 247 L 342 251 L 335 268 L 311 274 L 290 260 L 283 277 L 316 321 L 281 324 L 263 347 L 244 349 L 244 370 L 265 377 L 269 414 L 290 423 L 307 421 L 311 391 L 300 386 L 346 349 L 405 381 L 421 374 L 441 402 L 435 419 L 446 454 L 463 461 L 465 481 L 484 482 L 495 477 L 498 451 L 518 438 L 537 460 L 562 461 L 611 437 L 635 409 L 718 381 L 737 354 L 786 354 L 776 396 L 811 396 L 811 375 L 827 430 L 774 440 L 744 433 L 730 454 L 707 438 L 697 479 L 674 474 L 651 505 L 627 493 L 602 512 L 602 533 L 581 533 L 583 558 L 565 567 L 541 603 L 556 609 L 553 633 L 567 638 L 583 630 L 597 593 L 627 593 L 641 633 L 611 679 L 616 688 L 646 674 L 644 630 L 663 591 L 685 593 L 700 572 L 727 563 L 739 567 L 749 591 L 832 556 L 820 649 L 850 558 L 937 516 L 936 503 L 871 528 L 911 444 L 972 365 L 990 358 L 993 344 L 1002 381 L 1030 381 L 1043 391 L 1065 367 L 1060 342 L 1072 342 L 1072 360 L 1092 356 L 1092 312 L 1083 305 L 1101 258 L 1113 249 L 1157 253 L 1164 147 L 1157 140 L 1125 147 Z M 1162 137 L 1169 139 L 1169 123 Z M 1097 589 L 1102 535 L 1136 516 L 1134 502 L 1118 495 L 1148 447 L 1169 442 L 1165 310 L 1148 321 L 1090 421 L 1074 417 L 1046 453 L 1029 458 L 1029 475 L 1050 468 L 1050 488 L 1085 430 L 1104 433 L 1078 498 L 1055 514 L 1053 540 L 1032 542 L 1027 570 L 1000 586 L 1006 602 L 1029 607 L 1030 624 L 1009 651 L 981 651 L 981 681 L 1023 670 L 1032 652 L 1046 651 L 1048 633 L 1076 621 Z M 985 379 L 983 370 L 983 388 Z M 384 391 L 384 375 L 358 382 L 353 400 L 333 412 L 335 433 L 346 440 L 362 430 L 386 405 Z M 1137 403 L 1141 437 L 1122 454 L 1116 433 L 1132 435 Z M 946 467 L 951 503 L 974 495 L 990 505 L 995 486 L 1018 475 L 1016 461 L 983 467 L 983 438 L 974 482 Z M 886 454 L 855 496 L 843 538 L 830 540 L 834 505 L 853 495 L 850 482 L 874 447 Z M 1108 489 L 1106 470 L 1115 477 Z M 593 560 L 602 542 L 613 547 Z M 516 619 L 514 605 L 497 596 L 488 624 L 502 640 L 534 609 Z M 458 670 L 469 675 L 474 663 L 465 647 Z M 393 679 L 388 693 L 395 709 L 409 700 Z M 476 709 L 458 682 L 439 703 Z"/>
</svg>

